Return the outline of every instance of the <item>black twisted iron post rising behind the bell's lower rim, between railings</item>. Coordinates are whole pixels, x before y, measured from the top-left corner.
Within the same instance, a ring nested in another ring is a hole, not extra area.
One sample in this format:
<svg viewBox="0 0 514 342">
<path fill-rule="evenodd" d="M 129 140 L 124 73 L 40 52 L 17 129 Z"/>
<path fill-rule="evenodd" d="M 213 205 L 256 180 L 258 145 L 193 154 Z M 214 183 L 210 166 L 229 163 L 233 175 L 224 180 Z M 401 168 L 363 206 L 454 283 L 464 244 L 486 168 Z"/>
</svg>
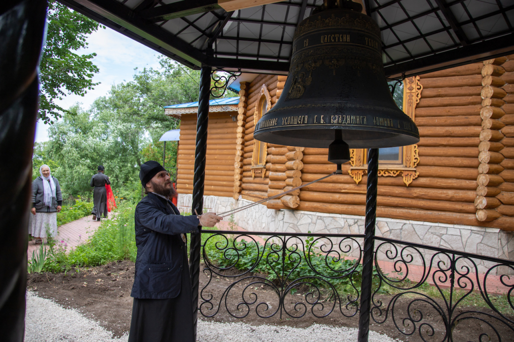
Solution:
<svg viewBox="0 0 514 342">
<path fill-rule="evenodd" d="M 364 256 L 362 258 L 358 342 L 368 342 L 368 336 L 370 334 L 373 250 L 375 248 L 375 219 L 377 212 L 377 183 L 378 148 L 370 148 L 368 153 L 368 191 L 366 192 L 366 222 L 364 230 Z"/>
</svg>

